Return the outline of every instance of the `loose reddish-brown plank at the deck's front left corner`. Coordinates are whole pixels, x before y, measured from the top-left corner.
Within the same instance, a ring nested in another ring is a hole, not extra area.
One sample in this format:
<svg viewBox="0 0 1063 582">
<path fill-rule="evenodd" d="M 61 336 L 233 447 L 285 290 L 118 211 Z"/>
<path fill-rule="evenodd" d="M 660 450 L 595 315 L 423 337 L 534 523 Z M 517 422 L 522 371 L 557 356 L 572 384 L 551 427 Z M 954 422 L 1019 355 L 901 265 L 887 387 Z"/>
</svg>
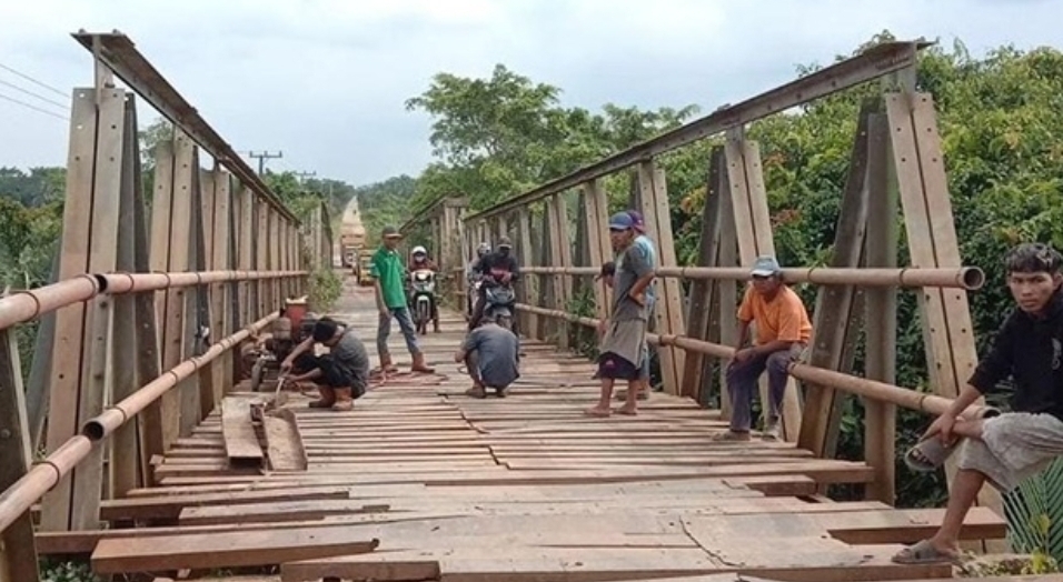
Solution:
<svg viewBox="0 0 1063 582">
<path fill-rule="evenodd" d="M 181 569 L 238 568 L 278 564 L 334 555 L 371 552 L 376 539 L 352 534 L 350 528 L 271 531 L 248 530 L 158 538 L 101 540 L 92 552 L 92 571 L 120 574 Z"/>
</svg>

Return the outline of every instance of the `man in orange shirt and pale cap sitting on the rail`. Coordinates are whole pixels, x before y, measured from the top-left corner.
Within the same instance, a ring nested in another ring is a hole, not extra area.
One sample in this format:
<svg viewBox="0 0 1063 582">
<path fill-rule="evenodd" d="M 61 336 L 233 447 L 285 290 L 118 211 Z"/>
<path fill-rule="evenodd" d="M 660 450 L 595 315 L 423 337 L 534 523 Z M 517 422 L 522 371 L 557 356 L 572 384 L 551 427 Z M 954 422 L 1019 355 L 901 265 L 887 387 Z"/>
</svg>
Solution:
<svg viewBox="0 0 1063 582">
<path fill-rule="evenodd" d="M 753 284 L 746 289 L 738 308 L 738 345 L 727 367 L 727 391 L 731 393 L 731 431 L 724 440 L 749 440 L 753 424 L 753 398 L 757 380 L 767 371 L 768 410 L 764 438 L 779 435 L 778 418 L 789 363 L 808 345 L 812 322 L 805 304 L 793 289 L 783 283 L 783 271 L 774 257 L 759 257 L 753 264 Z M 745 347 L 749 324 L 756 323 L 756 343 Z"/>
</svg>

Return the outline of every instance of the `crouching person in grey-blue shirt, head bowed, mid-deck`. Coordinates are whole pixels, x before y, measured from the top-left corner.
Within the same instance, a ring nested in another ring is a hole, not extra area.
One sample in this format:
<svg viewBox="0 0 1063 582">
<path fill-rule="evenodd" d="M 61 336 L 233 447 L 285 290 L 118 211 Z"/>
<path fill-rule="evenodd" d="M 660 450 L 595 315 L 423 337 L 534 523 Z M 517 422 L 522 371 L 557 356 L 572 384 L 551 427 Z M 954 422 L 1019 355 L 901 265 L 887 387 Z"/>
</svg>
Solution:
<svg viewBox="0 0 1063 582">
<path fill-rule="evenodd" d="M 486 398 L 490 388 L 498 398 L 506 398 L 509 384 L 520 378 L 520 340 L 491 315 L 480 321 L 481 325 L 465 337 L 454 361 L 465 362 L 473 379 L 473 388 L 465 392 L 467 395 Z"/>
</svg>

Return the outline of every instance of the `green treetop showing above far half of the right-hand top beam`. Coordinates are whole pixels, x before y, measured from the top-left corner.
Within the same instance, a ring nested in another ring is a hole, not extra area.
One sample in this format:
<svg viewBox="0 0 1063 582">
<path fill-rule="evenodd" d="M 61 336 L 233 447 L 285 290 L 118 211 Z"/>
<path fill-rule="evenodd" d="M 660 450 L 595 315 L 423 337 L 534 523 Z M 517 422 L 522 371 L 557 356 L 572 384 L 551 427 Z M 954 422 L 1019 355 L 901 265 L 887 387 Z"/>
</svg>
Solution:
<svg viewBox="0 0 1063 582">
<path fill-rule="evenodd" d="M 417 180 L 413 205 L 464 195 L 474 210 L 569 173 L 665 129 L 695 106 L 642 111 L 606 104 L 600 113 L 559 104 L 560 89 L 533 82 L 503 64 L 489 79 L 450 73 L 407 101 L 433 118 L 438 161 Z"/>
</svg>

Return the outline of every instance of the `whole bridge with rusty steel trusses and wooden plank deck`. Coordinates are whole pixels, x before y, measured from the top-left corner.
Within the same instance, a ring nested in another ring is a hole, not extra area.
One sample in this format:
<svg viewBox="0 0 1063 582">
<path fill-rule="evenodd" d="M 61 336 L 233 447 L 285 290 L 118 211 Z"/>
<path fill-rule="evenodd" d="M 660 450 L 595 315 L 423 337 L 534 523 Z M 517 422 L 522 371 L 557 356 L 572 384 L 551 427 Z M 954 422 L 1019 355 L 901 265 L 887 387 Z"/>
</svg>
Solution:
<svg viewBox="0 0 1063 582">
<path fill-rule="evenodd" d="M 0 299 L 0 579 L 40 580 L 41 555 L 157 581 L 954 575 L 890 561 L 943 514 L 894 506 L 897 407 L 937 413 L 956 395 L 976 361 L 966 291 L 983 282 L 961 262 L 933 98 L 915 89 L 923 43 L 876 46 L 496 207 L 471 211 L 456 195 L 426 209 L 403 230 L 448 273 L 443 331 L 421 338 L 436 372 L 375 377 L 354 410 L 334 412 L 276 381 L 251 391 L 239 357 L 331 267 L 327 209 L 300 222 L 129 38 L 73 38 L 93 56 L 96 83 L 72 91 L 59 278 Z M 731 413 L 719 364 L 733 353 L 739 285 L 755 257 L 774 253 L 759 149 L 744 128 L 857 86 L 872 89 L 829 263 L 785 273 L 818 299 L 811 355 L 791 367 L 783 439 L 714 441 Z M 150 192 L 140 100 L 176 127 L 152 152 Z M 698 258 L 684 267 L 659 159 L 709 139 Z M 629 197 L 606 191 L 625 174 Z M 607 317 L 609 290 L 593 275 L 612 258 L 606 217 L 622 208 L 643 212 L 658 248 L 662 390 L 637 417 L 592 419 L 582 411 L 597 382 L 579 352 Z M 897 263 L 898 223 L 910 265 Z M 469 399 L 451 359 L 460 271 L 479 241 L 504 233 L 527 273 L 523 377 L 510 398 Z M 901 289 L 920 298 L 933 392 L 895 385 L 896 322 L 881 315 L 895 313 Z M 574 309 L 580 297 L 592 311 Z M 372 345 L 371 290 L 348 280 L 332 311 Z M 34 319 L 31 380 L 47 381 L 23 387 L 13 331 Z M 860 461 L 835 459 L 850 395 L 865 411 Z M 862 485 L 865 499 L 833 500 L 833 484 Z M 965 543 L 999 551 L 1004 535 L 986 492 Z"/>
</svg>

